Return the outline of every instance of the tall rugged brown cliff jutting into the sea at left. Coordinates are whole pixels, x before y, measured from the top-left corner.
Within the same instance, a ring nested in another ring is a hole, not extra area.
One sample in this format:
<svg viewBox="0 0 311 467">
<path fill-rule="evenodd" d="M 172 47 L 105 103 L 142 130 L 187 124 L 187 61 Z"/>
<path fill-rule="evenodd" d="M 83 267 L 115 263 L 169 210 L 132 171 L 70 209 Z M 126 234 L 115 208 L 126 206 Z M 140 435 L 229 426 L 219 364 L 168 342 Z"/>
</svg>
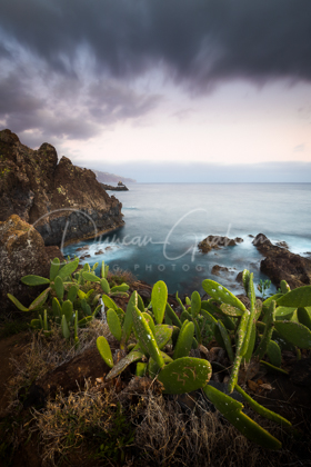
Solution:
<svg viewBox="0 0 311 467">
<path fill-rule="evenodd" d="M 0 221 L 16 213 L 46 245 L 66 245 L 121 227 L 121 207 L 94 172 L 66 157 L 58 161 L 53 146 L 32 150 L 10 130 L 0 131 Z"/>
</svg>

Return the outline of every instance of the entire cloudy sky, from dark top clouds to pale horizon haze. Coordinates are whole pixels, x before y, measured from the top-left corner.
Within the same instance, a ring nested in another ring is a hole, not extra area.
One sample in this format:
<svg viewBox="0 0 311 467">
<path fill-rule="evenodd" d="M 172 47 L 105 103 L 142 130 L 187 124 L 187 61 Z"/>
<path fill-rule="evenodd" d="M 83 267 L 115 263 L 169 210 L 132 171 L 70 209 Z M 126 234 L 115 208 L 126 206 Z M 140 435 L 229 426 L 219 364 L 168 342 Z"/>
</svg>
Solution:
<svg viewBox="0 0 311 467">
<path fill-rule="evenodd" d="M 0 128 L 138 181 L 310 181 L 311 1 L 2 0 Z"/>
</svg>

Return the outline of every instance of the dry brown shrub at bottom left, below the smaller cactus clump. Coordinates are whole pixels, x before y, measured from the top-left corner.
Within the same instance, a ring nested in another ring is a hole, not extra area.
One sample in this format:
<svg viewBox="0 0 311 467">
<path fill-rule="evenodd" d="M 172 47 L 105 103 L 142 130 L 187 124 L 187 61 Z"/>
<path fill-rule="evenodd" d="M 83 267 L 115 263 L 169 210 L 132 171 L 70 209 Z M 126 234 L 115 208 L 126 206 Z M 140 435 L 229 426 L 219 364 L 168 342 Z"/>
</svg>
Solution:
<svg viewBox="0 0 311 467">
<path fill-rule="evenodd" d="M 132 443 L 132 427 L 121 407 L 116 404 L 113 390 L 100 393 L 86 381 L 83 391 L 68 397 L 58 394 L 46 410 L 33 410 L 39 433 L 42 466 L 67 465 L 116 465 L 123 449 Z M 98 459 L 96 464 L 90 461 Z M 83 460 L 83 461 L 82 461 Z"/>
</svg>

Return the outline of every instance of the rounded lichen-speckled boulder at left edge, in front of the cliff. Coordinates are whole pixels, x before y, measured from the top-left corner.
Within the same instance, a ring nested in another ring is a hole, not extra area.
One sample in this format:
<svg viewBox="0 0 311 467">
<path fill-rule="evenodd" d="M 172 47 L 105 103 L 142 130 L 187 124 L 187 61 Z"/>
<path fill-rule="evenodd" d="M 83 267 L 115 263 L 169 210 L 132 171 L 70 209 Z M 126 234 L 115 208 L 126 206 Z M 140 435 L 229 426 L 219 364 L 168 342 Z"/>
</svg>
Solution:
<svg viewBox="0 0 311 467">
<path fill-rule="evenodd" d="M 17 308 L 7 294 L 17 297 L 24 306 L 40 294 L 40 287 L 24 286 L 20 279 L 34 274 L 49 277 L 51 259 L 64 260 L 58 247 L 46 247 L 40 234 L 19 216 L 10 216 L 0 222 L 0 314 Z"/>
</svg>

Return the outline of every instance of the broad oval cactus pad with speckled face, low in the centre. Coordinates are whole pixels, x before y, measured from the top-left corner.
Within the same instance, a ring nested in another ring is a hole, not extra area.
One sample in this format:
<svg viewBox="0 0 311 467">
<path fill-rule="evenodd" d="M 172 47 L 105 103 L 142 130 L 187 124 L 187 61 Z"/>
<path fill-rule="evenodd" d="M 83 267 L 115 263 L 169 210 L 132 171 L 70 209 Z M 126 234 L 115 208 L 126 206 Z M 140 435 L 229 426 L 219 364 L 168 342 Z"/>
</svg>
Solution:
<svg viewBox="0 0 311 467">
<path fill-rule="evenodd" d="M 208 384 L 211 365 L 201 358 L 182 357 L 167 365 L 158 375 L 167 394 L 184 394 Z"/>
</svg>

